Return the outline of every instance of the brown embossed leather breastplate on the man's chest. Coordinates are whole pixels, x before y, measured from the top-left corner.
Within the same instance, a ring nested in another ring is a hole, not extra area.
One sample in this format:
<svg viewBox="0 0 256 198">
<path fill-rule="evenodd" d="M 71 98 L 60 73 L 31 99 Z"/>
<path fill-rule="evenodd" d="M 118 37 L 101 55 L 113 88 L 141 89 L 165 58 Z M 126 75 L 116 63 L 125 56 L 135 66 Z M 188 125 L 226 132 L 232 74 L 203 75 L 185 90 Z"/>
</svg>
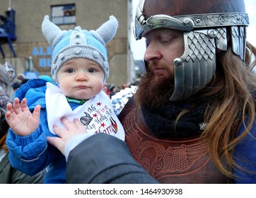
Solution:
<svg viewBox="0 0 256 198">
<path fill-rule="evenodd" d="M 132 156 L 161 183 L 227 183 L 209 158 L 207 144 L 199 136 L 190 139 L 158 139 L 131 98 L 119 115 Z"/>
</svg>

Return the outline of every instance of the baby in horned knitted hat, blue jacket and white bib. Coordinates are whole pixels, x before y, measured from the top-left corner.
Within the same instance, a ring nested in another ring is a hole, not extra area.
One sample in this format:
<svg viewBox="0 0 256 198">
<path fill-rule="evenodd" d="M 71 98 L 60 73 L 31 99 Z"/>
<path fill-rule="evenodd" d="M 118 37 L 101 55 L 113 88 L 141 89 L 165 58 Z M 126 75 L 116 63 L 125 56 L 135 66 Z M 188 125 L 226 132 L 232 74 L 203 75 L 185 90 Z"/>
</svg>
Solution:
<svg viewBox="0 0 256 198">
<path fill-rule="evenodd" d="M 28 175 L 47 168 L 44 183 L 66 182 L 65 157 L 47 144 L 47 136 L 56 136 L 55 125 L 62 126 L 62 117 L 78 118 L 88 136 L 106 133 L 124 141 L 122 124 L 103 91 L 109 76 L 105 45 L 117 27 L 117 19 L 110 16 L 97 30 L 60 30 L 45 16 L 42 33 L 53 48 L 51 74 L 56 83 L 30 80 L 18 88 L 13 104 L 7 104 L 11 129 L 6 144 L 14 168 Z"/>
</svg>

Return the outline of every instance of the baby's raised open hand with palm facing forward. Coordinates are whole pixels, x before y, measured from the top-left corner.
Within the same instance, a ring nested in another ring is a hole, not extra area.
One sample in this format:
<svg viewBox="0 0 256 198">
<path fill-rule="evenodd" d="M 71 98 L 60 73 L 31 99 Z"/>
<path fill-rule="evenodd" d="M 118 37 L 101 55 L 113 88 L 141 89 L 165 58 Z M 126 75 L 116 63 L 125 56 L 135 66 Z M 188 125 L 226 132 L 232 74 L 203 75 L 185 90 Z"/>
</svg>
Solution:
<svg viewBox="0 0 256 198">
<path fill-rule="evenodd" d="M 21 100 L 21 104 L 19 102 L 19 99 L 15 98 L 13 105 L 7 104 L 6 122 L 18 136 L 28 136 L 39 126 L 41 107 L 37 105 L 34 112 L 31 113 L 25 98 Z"/>
</svg>

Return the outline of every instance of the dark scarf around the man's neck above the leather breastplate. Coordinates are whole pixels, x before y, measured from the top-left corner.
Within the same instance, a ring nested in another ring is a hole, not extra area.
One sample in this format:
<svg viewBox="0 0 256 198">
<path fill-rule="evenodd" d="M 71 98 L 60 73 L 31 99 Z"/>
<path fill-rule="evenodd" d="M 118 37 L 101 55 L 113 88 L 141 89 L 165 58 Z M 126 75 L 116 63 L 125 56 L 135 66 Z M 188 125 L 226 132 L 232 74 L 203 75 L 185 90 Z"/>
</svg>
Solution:
<svg viewBox="0 0 256 198">
<path fill-rule="evenodd" d="M 208 100 L 209 102 L 209 100 Z M 190 112 L 180 117 L 178 115 L 185 107 L 190 107 L 190 101 L 170 103 L 160 107 L 141 107 L 146 124 L 158 138 L 188 137 L 202 133 L 200 124 L 204 122 L 206 100 L 200 100 Z"/>
</svg>

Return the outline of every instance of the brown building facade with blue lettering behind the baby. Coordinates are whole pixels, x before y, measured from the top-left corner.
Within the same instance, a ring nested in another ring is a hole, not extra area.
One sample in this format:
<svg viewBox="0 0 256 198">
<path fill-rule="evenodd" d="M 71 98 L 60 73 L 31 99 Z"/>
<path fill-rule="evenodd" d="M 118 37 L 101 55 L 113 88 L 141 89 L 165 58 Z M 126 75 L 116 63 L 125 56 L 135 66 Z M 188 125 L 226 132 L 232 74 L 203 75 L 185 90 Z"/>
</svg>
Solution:
<svg viewBox="0 0 256 198">
<path fill-rule="evenodd" d="M 45 15 L 62 30 L 96 30 L 114 15 L 119 28 L 114 39 L 107 43 L 110 77 L 107 82 L 117 86 L 129 81 L 128 29 L 131 0 L 0 0 L 0 16 L 10 17 L 15 24 L 15 38 L 0 37 L 0 63 L 9 62 L 16 74 L 28 78 L 50 75 L 52 48 L 42 35 Z M 1 33 L 0 33 L 1 34 Z M 2 34 L 3 35 L 3 34 Z"/>
</svg>

